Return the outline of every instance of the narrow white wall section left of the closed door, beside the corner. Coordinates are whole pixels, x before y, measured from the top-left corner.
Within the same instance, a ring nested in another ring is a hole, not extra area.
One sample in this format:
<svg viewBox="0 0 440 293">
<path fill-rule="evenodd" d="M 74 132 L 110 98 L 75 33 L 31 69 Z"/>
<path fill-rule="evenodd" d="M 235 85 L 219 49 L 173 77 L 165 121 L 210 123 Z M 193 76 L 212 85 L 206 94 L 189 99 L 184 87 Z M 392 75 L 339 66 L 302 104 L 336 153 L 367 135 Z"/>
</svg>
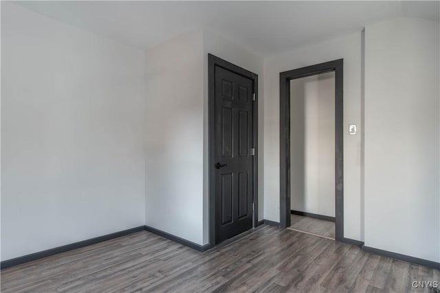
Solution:
<svg viewBox="0 0 440 293">
<path fill-rule="evenodd" d="M 203 33 L 145 52 L 145 223 L 203 244 Z"/>
</svg>

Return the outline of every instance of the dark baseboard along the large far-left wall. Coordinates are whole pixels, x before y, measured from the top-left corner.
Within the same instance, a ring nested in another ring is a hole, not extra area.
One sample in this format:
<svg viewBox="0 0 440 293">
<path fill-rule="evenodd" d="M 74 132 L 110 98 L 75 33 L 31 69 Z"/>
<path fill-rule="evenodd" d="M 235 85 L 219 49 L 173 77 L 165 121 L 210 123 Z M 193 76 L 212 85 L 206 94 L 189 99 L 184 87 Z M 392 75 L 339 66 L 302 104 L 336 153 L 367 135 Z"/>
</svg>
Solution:
<svg viewBox="0 0 440 293">
<path fill-rule="evenodd" d="M 135 232 L 143 231 L 144 226 L 137 226 L 135 228 L 126 229 L 124 231 L 119 231 L 107 235 L 102 235 L 99 237 L 94 237 L 90 239 L 86 239 L 80 242 L 75 242 L 72 244 L 67 244 L 63 246 L 58 246 L 56 248 L 50 248 L 47 250 L 39 251 L 38 253 L 31 253 L 30 255 L 23 255 L 22 257 L 15 257 L 14 259 L 7 259 L 5 261 L 1 261 L 0 268 L 10 268 L 12 266 L 17 266 L 21 263 L 27 263 L 29 261 L 35 261 L 37 259 L 43 259 L 44 257 L 50 257 L 51 255 L 58 255 L 58 253 L 65 253 L 69 250 L 74 250 L 76 248 L 81 248 L 85 246 L 89 246 L 91 244 L 97 244 L 103 241 L 107 241 L 113 238 L 118 238 L 121 236 L 129 235 Z"/>
</svg>

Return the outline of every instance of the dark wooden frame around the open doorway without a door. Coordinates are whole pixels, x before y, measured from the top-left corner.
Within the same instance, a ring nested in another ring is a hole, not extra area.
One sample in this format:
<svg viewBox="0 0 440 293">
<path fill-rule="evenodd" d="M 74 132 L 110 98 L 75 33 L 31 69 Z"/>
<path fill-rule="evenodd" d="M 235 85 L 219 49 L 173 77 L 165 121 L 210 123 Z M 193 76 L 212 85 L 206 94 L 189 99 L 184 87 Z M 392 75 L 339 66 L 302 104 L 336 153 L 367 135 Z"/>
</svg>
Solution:
<svg viewBox="0 0 440 293">
<path fill-rule="evenodd" d="M 336 240 L 344 240 L 344 59 L 280 73 L 280 225 L 290 226 L 290 80 L 335 71 Z"/>
</svg>

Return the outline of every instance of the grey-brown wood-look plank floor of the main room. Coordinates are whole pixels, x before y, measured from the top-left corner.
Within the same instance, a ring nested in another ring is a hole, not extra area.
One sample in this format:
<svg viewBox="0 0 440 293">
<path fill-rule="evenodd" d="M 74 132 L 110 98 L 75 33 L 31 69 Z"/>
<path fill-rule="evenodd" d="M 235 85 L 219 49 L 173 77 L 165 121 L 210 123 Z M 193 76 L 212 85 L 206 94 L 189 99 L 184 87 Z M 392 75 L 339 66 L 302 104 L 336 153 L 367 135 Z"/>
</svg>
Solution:
<svg viewBox="0 0 440 293">
<path fill-rule="evenodd" d="M 1 292 L 428 292 L 440 271 L 263 225 L 205 253 L 146 231 L 1 270 Z"/>
</svg>

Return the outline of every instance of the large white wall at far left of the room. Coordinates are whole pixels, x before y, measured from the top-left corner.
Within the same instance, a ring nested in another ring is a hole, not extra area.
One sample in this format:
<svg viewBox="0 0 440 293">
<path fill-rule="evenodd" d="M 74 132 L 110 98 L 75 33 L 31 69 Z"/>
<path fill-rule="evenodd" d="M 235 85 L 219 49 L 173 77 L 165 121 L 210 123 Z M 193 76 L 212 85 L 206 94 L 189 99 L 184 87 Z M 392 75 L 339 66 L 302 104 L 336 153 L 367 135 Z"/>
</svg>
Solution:
<svg viewBox="0 0 440 293">
<path fill-rule="evenodd" d="M 1 3 L 1 259 L 144 224 L 143 52 Z"/>
</svg>

